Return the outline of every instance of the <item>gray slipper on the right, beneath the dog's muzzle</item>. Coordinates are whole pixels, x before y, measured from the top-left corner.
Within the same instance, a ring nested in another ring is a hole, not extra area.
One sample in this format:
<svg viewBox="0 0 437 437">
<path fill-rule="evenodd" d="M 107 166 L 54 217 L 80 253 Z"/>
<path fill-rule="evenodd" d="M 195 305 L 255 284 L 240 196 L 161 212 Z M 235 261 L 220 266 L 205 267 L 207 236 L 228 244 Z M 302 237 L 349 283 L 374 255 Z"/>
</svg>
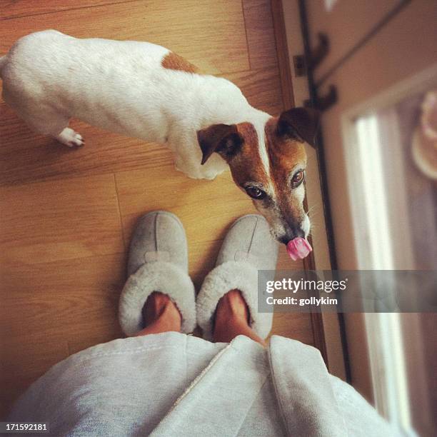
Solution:
<svg viewBox="0 0 437 437">
<path fill-rule="evenodd" d="M 204 338 L 212 339 L 214 313 L 218 301 L 234 288 L 246 301 L 251 328 L 261 338 L 271 331 L 273 313 L 258 313 L 258 270 L 275 270 L 278 243 L 271 238 L 263 216 L 249 214 L 238 218 L 223 240 L 216 262 L 197 296 L 197 323 Z"/>
</svg>

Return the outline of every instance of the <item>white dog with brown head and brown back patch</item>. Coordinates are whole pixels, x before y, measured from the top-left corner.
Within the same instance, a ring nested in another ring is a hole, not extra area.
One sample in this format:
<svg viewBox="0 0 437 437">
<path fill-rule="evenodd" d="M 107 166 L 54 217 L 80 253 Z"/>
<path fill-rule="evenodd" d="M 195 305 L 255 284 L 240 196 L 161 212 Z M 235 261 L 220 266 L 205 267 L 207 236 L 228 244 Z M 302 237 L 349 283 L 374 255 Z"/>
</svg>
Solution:
<svg viewBox="0 0 437 437">
<path fill-rule="evenodd" d="M 166 144 L 193 178 L 214 179 L 229 166 L 278 241 L 308 235 L 304 144 L 313 144 L 315 111 L 272 117 L 230 81 L 197 73 L 164 47 L 52 30 L 16 41 L 0 57 L 0 76 L 4 100 L 36 131 L 80 146 L 81 135 L 68 127 L 76 117 Z"/>
</svg>

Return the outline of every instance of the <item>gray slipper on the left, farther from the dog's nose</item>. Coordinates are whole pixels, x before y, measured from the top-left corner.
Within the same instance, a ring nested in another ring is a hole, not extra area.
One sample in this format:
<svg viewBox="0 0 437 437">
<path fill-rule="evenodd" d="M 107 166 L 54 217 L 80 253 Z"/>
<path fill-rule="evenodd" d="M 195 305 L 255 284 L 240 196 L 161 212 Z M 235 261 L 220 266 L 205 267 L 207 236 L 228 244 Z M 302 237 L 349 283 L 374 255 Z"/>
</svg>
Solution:
<svg viewBox="0 0 437 437">
<path fill-rule="evenodd" d="M 179 218 L 154 211 L 139 219 L 129 248 L 128 276 L 119 302 L 119 321 L 126 335 L 144 328 L 142 309 L 154 291 L 174 301 L 182 316 L 181 331 L 194 331 L 194 285 L 188 275 L 186 236 Z"/>
</svg>

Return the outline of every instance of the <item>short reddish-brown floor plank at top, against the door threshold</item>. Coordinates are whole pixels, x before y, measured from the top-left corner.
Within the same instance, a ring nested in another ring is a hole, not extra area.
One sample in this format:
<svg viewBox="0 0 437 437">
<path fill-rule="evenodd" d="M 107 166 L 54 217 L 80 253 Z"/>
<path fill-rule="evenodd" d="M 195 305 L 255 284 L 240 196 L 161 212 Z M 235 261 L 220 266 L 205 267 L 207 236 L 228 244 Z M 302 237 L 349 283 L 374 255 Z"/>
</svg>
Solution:
<svg viewBox="0 0 437 437">
<path fill-rule="evenodd" d="M 276 66 L 276 43 L 270 0 L 243 0 L 249 61 L 252 69 Z"/>
</svg>

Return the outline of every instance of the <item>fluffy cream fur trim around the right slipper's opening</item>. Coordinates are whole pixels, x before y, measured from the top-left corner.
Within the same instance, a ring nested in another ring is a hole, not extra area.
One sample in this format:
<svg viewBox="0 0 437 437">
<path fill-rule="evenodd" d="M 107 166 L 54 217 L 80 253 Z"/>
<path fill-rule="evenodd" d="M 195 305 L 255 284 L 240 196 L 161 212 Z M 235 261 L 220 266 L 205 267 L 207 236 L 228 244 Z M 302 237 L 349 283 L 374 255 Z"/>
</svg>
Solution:
<svg viewBox="0 0 437 437">
<path fill-rule="evenodd" d="M 271 331 L 273 313 L 258 313 L 258 271 L 245 261 L 227 261 L 206 276 L 196 300 L 197 323 L 204 331 L 204 338 L 212 340 L 217 303 L 234 288 L 241 291 L 248 305 L 251 328 L 266 338 Z"/>
</svg>

